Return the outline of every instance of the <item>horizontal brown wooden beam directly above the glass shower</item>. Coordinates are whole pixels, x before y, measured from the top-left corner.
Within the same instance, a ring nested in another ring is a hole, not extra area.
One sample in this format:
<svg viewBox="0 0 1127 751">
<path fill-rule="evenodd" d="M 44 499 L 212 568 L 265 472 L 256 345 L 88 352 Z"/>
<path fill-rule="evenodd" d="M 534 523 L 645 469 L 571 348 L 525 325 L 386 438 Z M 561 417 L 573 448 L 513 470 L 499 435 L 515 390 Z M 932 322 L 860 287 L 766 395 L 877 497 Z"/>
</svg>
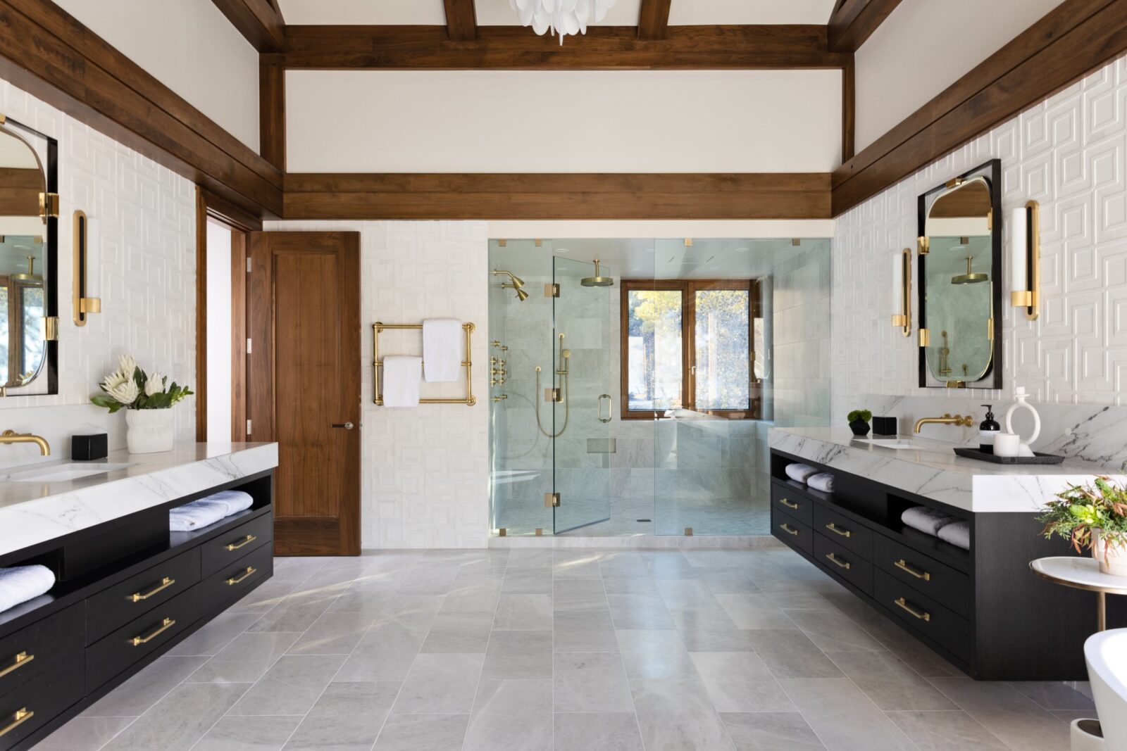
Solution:
<svg viewBox="0 0 1127 751">
<path fill-rule="evenodd" d="M 307 220 L 828 218 L 828 173 L 285 176 Z"/>
</svg>

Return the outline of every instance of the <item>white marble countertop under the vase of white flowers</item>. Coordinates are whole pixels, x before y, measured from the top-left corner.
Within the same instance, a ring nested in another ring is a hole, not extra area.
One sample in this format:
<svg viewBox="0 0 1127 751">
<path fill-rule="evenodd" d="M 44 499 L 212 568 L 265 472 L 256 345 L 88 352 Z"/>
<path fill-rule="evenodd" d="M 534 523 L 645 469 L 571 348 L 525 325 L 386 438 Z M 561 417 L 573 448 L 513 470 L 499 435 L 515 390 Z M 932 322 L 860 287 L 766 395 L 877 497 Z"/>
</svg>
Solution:
<svg viewBox="0 0 1127 751">
<path fill-rule="evenodd" d="M 125 464 L 76 480 L 17 482 L 52 467 Z M 170 452 L 109 452 L 105 459 L 39 462 L 0 472 L 0 554 L 246 477 L 278 464 L 277 444 L 177 444 Z"/>
</svg>

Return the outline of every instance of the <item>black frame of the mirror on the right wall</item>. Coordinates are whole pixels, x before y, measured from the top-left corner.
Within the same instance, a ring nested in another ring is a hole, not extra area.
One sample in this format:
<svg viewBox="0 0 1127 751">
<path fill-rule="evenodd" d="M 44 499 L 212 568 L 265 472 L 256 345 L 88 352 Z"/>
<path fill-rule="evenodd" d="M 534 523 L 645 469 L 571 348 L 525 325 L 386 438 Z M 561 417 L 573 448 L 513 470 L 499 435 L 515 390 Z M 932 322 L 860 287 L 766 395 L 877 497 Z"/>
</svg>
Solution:
<svg viewBox="0 0 1127 751">
<path fill-rule="evenodd" d="M 958 179 L 966 180 L 968 178 L 983 177 L 986 179 L 986 185 L 990 187 L 990 203 L 992 212 L 992 226 L 991 226 L 991 263 L 992 272 L 994 274 L 994 279 L 991 289 L 991 305 L 993 306 L 993 319 L 994 319 L 994 349 L 991 357 L 990 367 L 986 368 L 986 373 L 976 381 L 964 382 L 960 388 L 970 388 L 975 384 L 983 388 L 1001 388 L 1002 387 L 1002 160 L 992 159 L 984 164 L 979 164 L 973 170 L 968 170 L 962 175 L 958 176 Z M 931 190 L 922 194 L 917 202 L 917 238 L 926 236 L 925 230 L 928 224 L 928 208 L 930 206 L 929 198 L 935 196 L 935 194 L 941 193 L 948 188 L 948 184 L 943 184 L 932 188 Z M 919 292 L 916 293 L 916 299 L 920 306 L 920 328 L 923 328 L 923 322 L 926 321 L 924 315 L 926 311 L 926 266 L 928 266 L 928 254 L 917 253 L 916 256 L 919 262 L 916 263 L 916 287 Z M 921 388 L 950 388 L 951 386 L 943 386 L 937 384 L 928 383 L 928 354 L 924 351 L 923 347 L 920 347 L 920 387 Z M 991 377 L 993 375 L 993 378 Z M 993 383 L 987 383 L 987 382 Z"/>
</svg>

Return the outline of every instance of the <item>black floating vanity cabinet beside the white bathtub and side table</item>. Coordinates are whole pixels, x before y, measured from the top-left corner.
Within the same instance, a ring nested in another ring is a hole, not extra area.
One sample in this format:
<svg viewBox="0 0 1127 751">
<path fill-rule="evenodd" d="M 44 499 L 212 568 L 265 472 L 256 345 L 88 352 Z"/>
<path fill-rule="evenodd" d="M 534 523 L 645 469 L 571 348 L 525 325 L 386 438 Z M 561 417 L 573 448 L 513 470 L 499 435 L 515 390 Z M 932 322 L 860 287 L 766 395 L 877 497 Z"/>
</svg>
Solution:
<svg viewBox="0 0 1127 751">
<path fill-rule="evenodd" d="M 834 475 L 822 493 L 787 477 Z M 970 549 L 906 527 L 913 506 L 970 521 Z M 771 534 L 971 678 L 1086 680 L 1095 596 L 1044 581 L 1033 558 L 1070 555 L 1033 513 L 974 513 L 772 449 Z M 1115 611 L 1112 611 L 1115 613 Z"/>
</svg>

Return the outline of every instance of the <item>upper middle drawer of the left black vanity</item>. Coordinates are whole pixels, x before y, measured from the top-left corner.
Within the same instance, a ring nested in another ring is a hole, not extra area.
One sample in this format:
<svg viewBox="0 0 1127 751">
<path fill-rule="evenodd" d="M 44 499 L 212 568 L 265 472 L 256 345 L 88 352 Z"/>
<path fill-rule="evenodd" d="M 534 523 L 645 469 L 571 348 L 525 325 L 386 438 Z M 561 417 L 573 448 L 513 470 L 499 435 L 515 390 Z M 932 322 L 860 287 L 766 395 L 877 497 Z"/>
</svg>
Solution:
<svg viewBox="0 0 1127 751">
<path fill-rule="evenodd" d="M 198 581 L 199 551 L 190 549 L 87 598 L 86 643 L 97 642 Z"/>
</svg>

